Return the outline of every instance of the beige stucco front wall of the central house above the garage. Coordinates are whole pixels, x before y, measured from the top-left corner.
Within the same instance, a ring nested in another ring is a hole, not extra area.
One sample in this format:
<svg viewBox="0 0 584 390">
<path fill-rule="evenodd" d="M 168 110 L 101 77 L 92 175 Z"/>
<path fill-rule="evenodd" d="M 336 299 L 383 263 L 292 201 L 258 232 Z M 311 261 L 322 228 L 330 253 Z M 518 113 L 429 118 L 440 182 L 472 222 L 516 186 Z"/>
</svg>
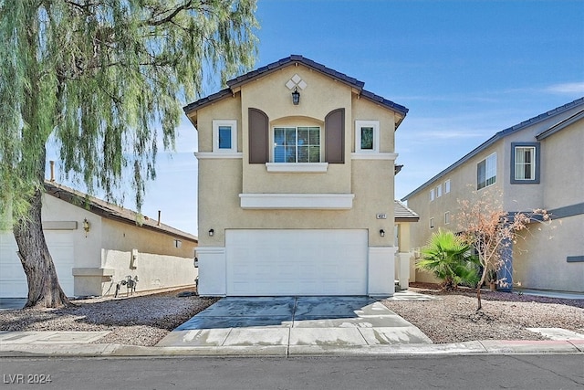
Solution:
<svg viewBox="0 0 584 390">
<path fill-rule="evenodd" d="M 308 85 L 300 90 L 298 106 L 292 105 L 291 91 L 285 86 L 295 74 Z M 355 96 L 348 85 L 300 65 L 250 81 L 235 98 L 197 111 L 200 153 L 213 150 L 214 119 L 236 119 L 241 138 L 238 150 L 243 145 L 242 158 L 199 159 L 199 244 L 224 247 L 225 228 L 368 228 L 370 246 L 392 246 L 394 160 L 351 160 L 351 152 L 356 120 L 379 120 L 380 151 L 394 152 L 396 114 Z M 283 124 L 324 128 L 330 111 L 345 108 L 345 163 L 328 164 L 326 173 L 294 174 L 268 173 L 265 164 L 249 164 L 248 108 L 266 112 L 270 132 Z M 241 208 L 240 194 L 354 194 L 355 198 L 349 210 L 250 210 Z M 386 214 L 387 219 L 377 219 L 377 213 Z M 211 228 L 214 237 L 207 234 Z M 385 237 L 380 237 L 381 228 Z"/>
</svg>

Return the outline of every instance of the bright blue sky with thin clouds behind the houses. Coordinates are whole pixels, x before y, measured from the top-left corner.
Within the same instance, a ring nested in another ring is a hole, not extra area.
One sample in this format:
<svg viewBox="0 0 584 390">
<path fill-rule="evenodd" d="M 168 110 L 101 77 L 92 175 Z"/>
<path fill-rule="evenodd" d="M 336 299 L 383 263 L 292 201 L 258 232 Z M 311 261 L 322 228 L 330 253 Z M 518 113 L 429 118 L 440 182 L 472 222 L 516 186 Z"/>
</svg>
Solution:
<svg viewBox="0 0 584 390">
<path fill-rule="evenodd" d="M 410 109 L 396 132 L 396 199 L 495 132 L 584 96 L 581 0 L 258 0 L 256 16 L 255 68 L 299 54 Z M 196 140 L 185 118 L 142 207 L 193 234 Z"/>
</svg>

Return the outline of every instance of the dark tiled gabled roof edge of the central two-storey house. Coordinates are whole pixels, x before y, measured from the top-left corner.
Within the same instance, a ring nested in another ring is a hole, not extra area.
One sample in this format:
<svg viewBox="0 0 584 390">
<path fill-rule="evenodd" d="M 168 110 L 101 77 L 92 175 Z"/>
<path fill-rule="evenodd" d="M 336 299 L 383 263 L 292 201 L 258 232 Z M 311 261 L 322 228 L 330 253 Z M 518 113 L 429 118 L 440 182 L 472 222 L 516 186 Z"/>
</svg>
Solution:
<svg viewBox="0 0 584 390">
<path fill-rule="evenodd" d="M 278 69 L 282 69 L 290 64 L 296 63 L 302 64 L 310 69 L 318 70 L 319 72 L 331 77 L 332 79 L 337 79 L 341 82 L 344 82 L 345 84 L 349 85 L 349 87 L 359 90 L 360 96 L 367 100 L 378 103 L 385 108 L 391 109 L 392 111 L 397 111 L 401 113 L 403 116 L 405 116 L 408 113 L 408 109 L 402 106 L 401 104 L 397 104 L 391 100 L 382 98 L 381 96 L 376 95 L 368 90 L 363 90 L 363 86 L 365 85 L 363 81 L 351 78 L 344 73 L 338 72 L 337 70 L 327 68 L 324 65 L 313 61 L 312 59 L 308 59 L 303 56 L 295 54 L 287 58 L 279 59 L 276 62 L 272 62 L 271 64 L 268 64 L 265 67 L 252 70 L 248 73 L 245 73 L 244 75 L 236 77 L 235 79 L 230 79 L 229 81 L 227 81 L 228 88 L 220 90 L 219 92 L 214 93 L 213 95 L 207 96 L 205 98 L 193 101 L 193 103 L 184 106 L 183 110 L 186 113 L 196 111 L 208 104 L 213 103 L 216 100 L 221 100 L 224 99 L 224 97 L 226 96 L 233 95 L 233 90 L 235 90 L 235 88 L 237 87 L 242 86 L 246 82 L 257 79 L 259 77 L 266 76 L 266 74 L 272 73 Z"/>
</svg>

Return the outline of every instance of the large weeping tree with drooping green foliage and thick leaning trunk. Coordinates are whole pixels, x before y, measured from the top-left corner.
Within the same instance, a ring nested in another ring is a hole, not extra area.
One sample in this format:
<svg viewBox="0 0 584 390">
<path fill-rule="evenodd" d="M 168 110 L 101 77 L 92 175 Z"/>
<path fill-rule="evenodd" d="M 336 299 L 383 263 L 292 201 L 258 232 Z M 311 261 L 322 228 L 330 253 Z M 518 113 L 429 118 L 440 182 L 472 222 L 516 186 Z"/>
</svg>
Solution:
<svg viewBox="0 0 584 390">
<path fill-rule="evenodd" d="M 89 193 L 131 183 L 140 210 L 182 103 L 253 66 L 256 27 L 255 0 L 0 0 L 0 217 L 26 307 L 69 304 L 41 224 L 47 142 Z"/>
</svg>

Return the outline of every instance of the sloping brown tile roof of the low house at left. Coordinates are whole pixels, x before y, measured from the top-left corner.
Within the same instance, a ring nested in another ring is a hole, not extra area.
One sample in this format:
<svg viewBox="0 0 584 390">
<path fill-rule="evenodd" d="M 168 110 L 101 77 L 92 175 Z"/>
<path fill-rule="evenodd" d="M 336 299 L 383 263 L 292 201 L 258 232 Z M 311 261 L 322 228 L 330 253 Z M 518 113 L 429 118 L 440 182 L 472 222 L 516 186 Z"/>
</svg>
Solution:
<svg viewBox="0 0 584 390">
<path fill-rule="evenodd" d="M 112 205 L 102 199 L 98 199 L 93 196 L 89 196 L 68 186 L 45 181 L 45 189 L 48 195 L 55 196 L 58 199 L 66 201 L 73 206 L 78 206 L 87 209 L 89 212 L 94 213 L 98 216 L 104 218 L 116 220 L 126 224 L 139 226 L 149 230 L 158 231 L 160 233 L 172 236 L 181 237 L 183 239 L 198 242 L 199 239 L 190 233 L 183 232 L 182 230 L 170 227 L 168 225 L 160 224 L 155 219 L 151 219 L 148 216 L 144 216 L 141 225 L 138 225 L 137 221 L 139 219 L 139 214 L 127 208 Z"/>
</svg>

